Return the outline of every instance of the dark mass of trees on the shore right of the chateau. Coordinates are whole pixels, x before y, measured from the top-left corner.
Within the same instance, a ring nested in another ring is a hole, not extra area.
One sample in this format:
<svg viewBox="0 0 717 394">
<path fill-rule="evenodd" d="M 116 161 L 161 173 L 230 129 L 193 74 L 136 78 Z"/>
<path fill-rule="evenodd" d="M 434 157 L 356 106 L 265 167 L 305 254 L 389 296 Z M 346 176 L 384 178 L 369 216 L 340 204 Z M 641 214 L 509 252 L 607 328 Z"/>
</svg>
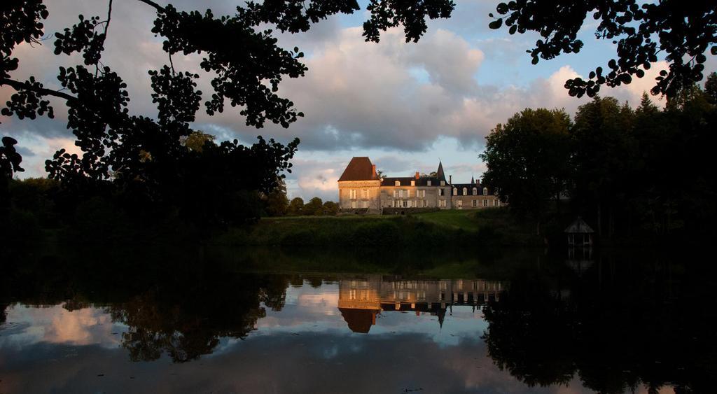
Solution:
<svg viewBox="0 0 717 394">
<path fill-rule="evenodd" d="M 484 182 L 541 225 L 581 215 L 601 236 L 715 234 L 717 74 L 637 109 L 594 97 L 565 110 L 526 109 L 487 137 Z"/>
</svg>

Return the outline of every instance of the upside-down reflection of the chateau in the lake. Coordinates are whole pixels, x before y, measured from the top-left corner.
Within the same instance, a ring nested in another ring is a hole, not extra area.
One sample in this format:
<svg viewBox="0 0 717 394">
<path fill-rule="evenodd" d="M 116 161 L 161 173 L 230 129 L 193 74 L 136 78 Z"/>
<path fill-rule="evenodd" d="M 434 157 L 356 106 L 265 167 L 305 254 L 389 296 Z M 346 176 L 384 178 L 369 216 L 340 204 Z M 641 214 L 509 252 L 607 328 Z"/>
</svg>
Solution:
<svg viewBox="0 0 717 394">
<path fill-rule="evenodd" d="M 381 275 L 338 282 L 338 310 L 353 332 L 369 332 L 384 311 L 429 313 L 443 325 L 453 305 L 480 307 L 498 301 L 502 282 L 476 280 L 391 280 Z"/>
</svg>

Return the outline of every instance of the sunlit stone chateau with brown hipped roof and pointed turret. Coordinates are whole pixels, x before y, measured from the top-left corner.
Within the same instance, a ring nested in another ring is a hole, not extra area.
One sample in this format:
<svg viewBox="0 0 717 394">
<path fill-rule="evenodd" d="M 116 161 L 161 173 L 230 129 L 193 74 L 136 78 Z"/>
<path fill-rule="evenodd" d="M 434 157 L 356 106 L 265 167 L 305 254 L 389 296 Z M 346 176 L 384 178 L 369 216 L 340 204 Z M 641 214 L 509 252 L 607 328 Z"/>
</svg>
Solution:
<svg viewBox="0 0 717 394">
<path fill-rule="evenodd" d="M 355 157 L 338 178 L 338 204 L 342 211 L 366 213 L 403 213 L 426 208 L 479 209 L 500 206 L 495 191 L 474 179 L 470 183 L 452 183 L 446 179 L 443 164 L 435 176 L 390 178 L 376 173 L 376 165 L 367 157 Z"/>
</svg>

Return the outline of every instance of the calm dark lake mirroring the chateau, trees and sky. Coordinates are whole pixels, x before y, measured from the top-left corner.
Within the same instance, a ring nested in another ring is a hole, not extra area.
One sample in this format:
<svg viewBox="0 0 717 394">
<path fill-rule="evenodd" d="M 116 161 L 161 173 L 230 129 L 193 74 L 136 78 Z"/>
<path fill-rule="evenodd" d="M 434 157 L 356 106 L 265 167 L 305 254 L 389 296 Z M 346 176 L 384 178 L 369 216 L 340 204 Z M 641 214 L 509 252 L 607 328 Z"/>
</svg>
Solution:
<svg viewBox="0 0 717 394">
<path fill-rule="evenodd" d="M 645 251 L 26 251 L 0 393 L 709 393 L 709 261 Z"/>
</svg>

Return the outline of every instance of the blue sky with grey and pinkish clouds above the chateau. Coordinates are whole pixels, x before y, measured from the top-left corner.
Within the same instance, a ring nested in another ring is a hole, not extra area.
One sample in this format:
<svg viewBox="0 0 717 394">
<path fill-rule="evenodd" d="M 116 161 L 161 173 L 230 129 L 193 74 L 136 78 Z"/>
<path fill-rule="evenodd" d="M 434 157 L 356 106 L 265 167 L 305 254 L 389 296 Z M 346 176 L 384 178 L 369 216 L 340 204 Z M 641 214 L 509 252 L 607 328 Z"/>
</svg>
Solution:
<svg viewBox="0 0 717 394">
<path fill-rule="evenodd" d="M 167 1 L 159 0 L 159 4 Z M 417 43 L 407 44 L 401 29 L 386 32 L 380 44 L 361 37 L 361 24 L 367 18 L 365 1 L 353 15 L 334 16 L 316 24 L 305 34 L 281 34 L 284 47 L 298 46 L 305 52 L 305 77 L 285 80 L 280 95 L 295 102 L 305 117 L 288 129 L 270 127 L 256 130 L 244 125 L 239 110 L 228 110 L 209 117 L 199 112 L 196 128 L 217 135 L 219 140 L 237 138 L 252 143 L 256 135 L 288 142 L 301 139 L 295 156 L 294 172 L 288 174 L 290 197 L 308 199 L 338 198 L 336 180 L 352 156 L 369 156 L 389 176 L 409 176 L 415 171 L 435 170 L 442 160 L 455 182 L 479 178 L 485 166 L 478 154 L 485 135 L 499 122 L 505 122 L 525 107 L 565 108 L 574 114 L 586 101 L 567 95 L 566 79 L 587 75 L 614 57 L 614 45 L 594 38 L 592 19 L 583 27 L 585 47 L 580 54 L 561 55 L 549 62 L 531 65 L 526 49 L 534 34 L 511 36 L 505 29 L 488 29 L 488 13 L 498 0 L 457 0 L 452 19 L 432 21 L 427 34 Z M 46 34 L 69 27 L 77 14 L 102 15 L 106 1 L 47 1 L 50 16 Z M 179 9 L 196 9 L 197 1 L 173 1 Z M 236 0 L 202 1 L 201 9 L 214 14 L 232 14 Z M 154 12 L 134 0 L 113 5 L 112 24 L 105 44 L 103 63 L 118 72 L 128 84 L 130 111 L 154 116 L 148 69 L 168 63 L 161 50 L 161 39 L 150 32 Z M 57 87 L 57 67 L 81 64 L 80 56 L 52 55 L 53 40 L 42 46 L 22 44 L 16 48 L 20 68 L 18 80 L 29 75 Z M 200 57 L 174 58 L 176 69 L 204 76 L 200 90 L 209 89 L 209 76 L 199 69 Z M 630 105 L 639 103 L 654 76 L 664 68 L 657 62 L 642 80 L 609 90 Z M 715 57 L 708 57 L 706 69 L 716 69 Z M 12 90 L 0 88 L 3 102 Z M 664 102 L 654 97 L 658 105 Z M 0 117 L 1 135 L 19 140 L 27 172 L 22 176 L 44 176 L 44 160 L 55 150 L 75 150 L 72 133 L 65 128 L 62 104 L 54 103 L 56 118 L 20 121 Z"/>
</svg>

